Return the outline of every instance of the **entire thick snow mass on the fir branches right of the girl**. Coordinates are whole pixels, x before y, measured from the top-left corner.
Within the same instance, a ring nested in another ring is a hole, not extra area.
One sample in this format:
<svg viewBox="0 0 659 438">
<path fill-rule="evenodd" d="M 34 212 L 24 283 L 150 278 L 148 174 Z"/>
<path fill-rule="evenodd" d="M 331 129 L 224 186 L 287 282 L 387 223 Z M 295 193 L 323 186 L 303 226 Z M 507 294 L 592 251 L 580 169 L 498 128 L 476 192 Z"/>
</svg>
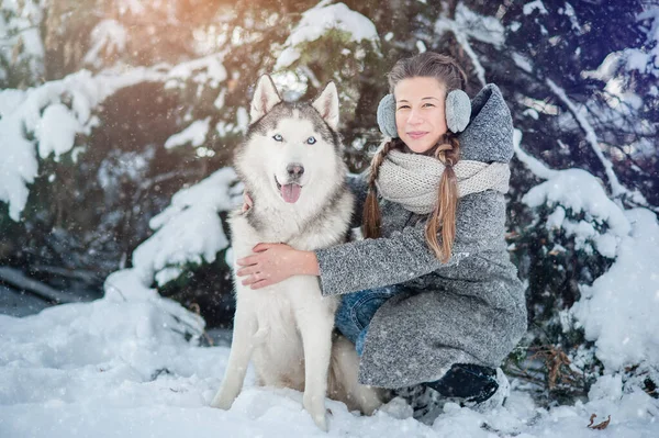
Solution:
<svg viewBox="0 0 659 438">
<path fill-rule="evenodd" d="M 572 239 L 576 250 L 596 251 L 614 260 L 592 285 L 579 284 L 581 297 L 569 310 L 573 327 L 582 328 L 585 338 L 595 342 L 605 374 L 630 366 L 656 370 L 659 323 L 648 323 L 659 312 L 656 215 L 647 209 L 624 210 L 608 199 L 596 177 L 582 169 L 548 169 L 524 153 L 520 143 L 521 133 L 515 131 L 517 158 L 547 179 L 522 202 L 536 211 L 547 209 L 544 226 Z"/>
</svg>

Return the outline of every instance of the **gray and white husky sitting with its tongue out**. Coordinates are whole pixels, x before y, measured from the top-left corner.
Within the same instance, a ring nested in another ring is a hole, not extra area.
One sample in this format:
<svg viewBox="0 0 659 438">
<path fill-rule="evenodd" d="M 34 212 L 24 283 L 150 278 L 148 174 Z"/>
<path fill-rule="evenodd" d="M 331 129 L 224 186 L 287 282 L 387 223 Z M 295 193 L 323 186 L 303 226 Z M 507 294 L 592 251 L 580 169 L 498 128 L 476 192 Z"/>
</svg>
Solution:
<svg viewBox="0 0 659 438">
<path fill-rule="evenodd" d="M 353 195 L 336 128 L 338 94 L 330 82 L 312 103 L 282 102 L 269 76 L 256 87 L 247 139 L 235 168 L 254 200 L 228 220 L 235 259 L 258 243 L 313 250 L 346 240 Z M 234 269 L 238 267 L 234 263 Z M 252 359 L 258 384 L 304 391 L 304 408 L 327 430 L 325 395 L 370 415 L 380 390 L 357 382 L 355 346 L 335 333 L 338 297 L 321 295 L 319 279 L 295 276 L 252 290 L 235 276 L 233 342 L 222 388 L 211 405 L 228 409 Z"/>
</svg>

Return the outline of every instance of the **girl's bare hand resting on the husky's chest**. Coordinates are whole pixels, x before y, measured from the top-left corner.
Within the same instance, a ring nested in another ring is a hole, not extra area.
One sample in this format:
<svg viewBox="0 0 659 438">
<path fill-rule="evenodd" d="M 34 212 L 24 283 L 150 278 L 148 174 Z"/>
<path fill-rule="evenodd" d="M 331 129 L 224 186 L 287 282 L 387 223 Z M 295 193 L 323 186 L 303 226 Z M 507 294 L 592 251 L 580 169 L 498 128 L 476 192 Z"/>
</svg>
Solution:
<svg viewBox="0 0 659 438">
<path fill-rule="evenodd" d="M 256 252 L 238 259 L 242 268 L 236 276 L 246 277 L 242 283 L 252 289 L 260 289 L 279 283 L 292 276 L 319 276 L 320 268 L 315 254 L 293 249 L 286 244 L 258 244 Z"/>
</svg>

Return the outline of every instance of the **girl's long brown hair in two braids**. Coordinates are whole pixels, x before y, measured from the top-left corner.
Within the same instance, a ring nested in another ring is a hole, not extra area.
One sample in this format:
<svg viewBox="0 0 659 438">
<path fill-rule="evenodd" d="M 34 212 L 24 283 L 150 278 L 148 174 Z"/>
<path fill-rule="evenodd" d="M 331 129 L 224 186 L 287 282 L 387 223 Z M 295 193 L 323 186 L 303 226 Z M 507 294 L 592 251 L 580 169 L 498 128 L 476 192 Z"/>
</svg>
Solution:
<svg viewBox="0 0 659 438">
<path fill-rule="evenodd" d="M 467 75 L 450 56 L 425 52 L 399 60 L 389 72 L 389 89 L 393 93 L 395 86 L 403 79 L 435 78 L 442 83 L 446 93 L 453 90 L 465 90 Z M 378 170 L 387 154 L 392 149 L 404 150 L 405 144 L 400 138 L 388 142 L 373 156 L 370 165 L 369 190 L 364 204 L 362 234 L 366 238 L 380 237 L 381 216 L 378 204 L 376 181 Z M 451 256 L 456 238 L 456 210 L 458 205 L 458 181 L 454 166 L 460 159 L 460 143 L 456 135 L 447 132 L 437 144 L 426 153 L 440 160 L 446 169 L 437 187 L 437 203 L 431 213 L 425 227 L 426 244 L 442 262 L 447 262 Z M 438 234 L 442 229 L 442 242 Z"/>
</svg>

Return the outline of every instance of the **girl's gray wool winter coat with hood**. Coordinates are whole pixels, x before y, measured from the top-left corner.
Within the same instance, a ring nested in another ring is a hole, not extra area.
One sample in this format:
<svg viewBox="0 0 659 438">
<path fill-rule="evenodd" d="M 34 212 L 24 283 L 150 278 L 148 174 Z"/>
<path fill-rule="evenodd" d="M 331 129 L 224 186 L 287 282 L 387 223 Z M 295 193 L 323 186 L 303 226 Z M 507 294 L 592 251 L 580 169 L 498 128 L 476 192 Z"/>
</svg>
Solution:
<svg viewBox="0 0 659 438">
<path fill-rule="evenodd" d="M 509 162 L 510 111 L 494 85 L 471 102 L 460 135 L 461 159 Z M 366 199 L 364 178 L 350 181 L 355 222 Z M 369 325 L 359 381 L 401 388 L 435 381 L 454 363 L 499 367 L 526 330 L 524 288 L 504 240 L 505 200 L 488 190 L 461 198 L 453 256 L 446 263 L 425 244 L 427 216 L 380 200 L 382 237 L 316 250 L 323 295 L 401 284 Z"/>
</svg>

